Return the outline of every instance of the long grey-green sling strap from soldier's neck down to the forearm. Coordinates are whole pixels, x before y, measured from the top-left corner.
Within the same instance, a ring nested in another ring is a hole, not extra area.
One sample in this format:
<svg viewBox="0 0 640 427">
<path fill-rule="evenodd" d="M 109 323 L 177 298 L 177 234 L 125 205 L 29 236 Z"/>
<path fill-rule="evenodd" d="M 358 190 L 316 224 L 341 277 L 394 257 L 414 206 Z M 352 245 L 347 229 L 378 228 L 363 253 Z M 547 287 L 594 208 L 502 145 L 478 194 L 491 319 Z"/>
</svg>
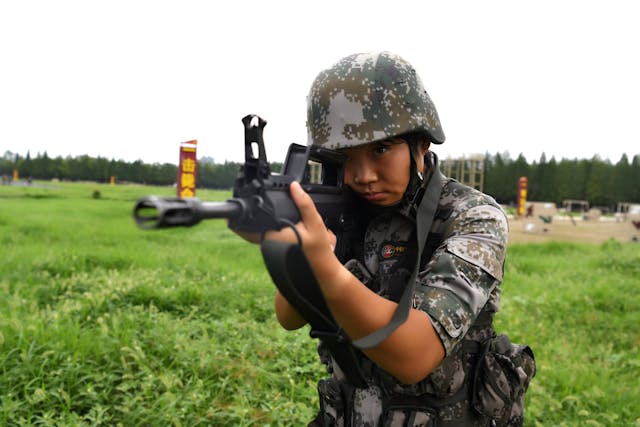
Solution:
<svg viewBox="0 0 640 427">
<path fill-rule="evenodd" d="M 387 323 L 377 331 L 356 341 L 353 341 L 353 345 L 356 348 L 366 349 L 377 346 L 382 341 L 387 339 L 387 337 L 391 335 L 393 331 L 395 331 L 400 325 L 402 325 L 407 320 L 407 317 L 409 317 L 409 311 L 411 310 L 412 306 L 415 282 L 420 270 L 422 250 L 424 248 L 425 242 L 427 241 L 427 235 L 429 234 L 429 230 L 431 229 L 431 224 L 433 223 L 436 209 L 438 208 L 438 204 L 440 202 L 440 194 L 442 193 L 442 188 L 446 183 L 446 178 L 440 172 L 437 163 L 434 165 L 432 170 L 433 173 L 431 175 L 431 178 L 429 179 L 424 195 L 422 196 L 422 200 L 418 205 L 415 234 L 416 238 L 418 239 L 418 256 L 416 258 L 416 263 L 413 268 L 413 272 L 411 273 L 411 277 L 409 278 L 409 284 L 404 289 L 402 296 L 398 300 L 398 306 L 396 307 L 396 311 L 393 313 L 393 317 L 391 318 L 389 323 Z"/>
</svg>

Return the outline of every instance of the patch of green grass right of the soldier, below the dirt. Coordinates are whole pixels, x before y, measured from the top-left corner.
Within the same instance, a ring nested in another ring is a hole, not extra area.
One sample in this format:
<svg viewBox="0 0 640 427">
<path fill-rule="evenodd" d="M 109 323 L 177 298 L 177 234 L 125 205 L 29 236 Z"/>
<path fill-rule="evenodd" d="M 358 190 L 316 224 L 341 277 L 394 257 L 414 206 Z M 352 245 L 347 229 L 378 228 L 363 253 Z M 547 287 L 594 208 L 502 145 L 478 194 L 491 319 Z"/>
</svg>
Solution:
<svg viewBox="0 0 640 427">
<path fill-rule="evenodd" d="M 640 425 L 640 246 L 509 249 L 497 328 L 534 348 L 534 425 Z"/>
</svg>

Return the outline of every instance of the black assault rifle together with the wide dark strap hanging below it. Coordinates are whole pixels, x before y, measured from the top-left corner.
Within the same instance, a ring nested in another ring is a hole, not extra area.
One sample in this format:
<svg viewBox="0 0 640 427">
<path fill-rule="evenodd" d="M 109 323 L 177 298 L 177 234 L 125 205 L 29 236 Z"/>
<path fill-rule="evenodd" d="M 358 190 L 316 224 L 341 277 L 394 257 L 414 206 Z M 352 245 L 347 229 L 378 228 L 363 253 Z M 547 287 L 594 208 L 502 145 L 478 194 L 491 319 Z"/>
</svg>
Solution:
<svg viewBox="0 0 640 427">
<path fill-rule="evenodd" d="M 138 226 L 188 227 L 204 219 L 228 218 L 229 228 L 243 232 L 264 232 L 285 226 L 295 231 L 300 212 L 290 197 L 289 184 L 298 181 L 313 199 L 327 228 L 338 237 L 336 254 L 338 257 L 344 254 L 356 220 L 355 199 L 344 186 L 344 156 L 318 146 L 291 144 L 283 173 L 272 173 L 262 135 L 266 121 L 248 115 L 242 123 L 245 163 L 235 180 L 231 199 L 203 202 L 196 198 L 143 197 L 133 210 Z M 358 350 L 333 319 L 301 244 L 265 240 L 261 250 L 274 283 L 311 325 L 310 335 L 327 345 L 352 384 L 364 387 L 366 381 L 356 357 Z"/>
</svg>

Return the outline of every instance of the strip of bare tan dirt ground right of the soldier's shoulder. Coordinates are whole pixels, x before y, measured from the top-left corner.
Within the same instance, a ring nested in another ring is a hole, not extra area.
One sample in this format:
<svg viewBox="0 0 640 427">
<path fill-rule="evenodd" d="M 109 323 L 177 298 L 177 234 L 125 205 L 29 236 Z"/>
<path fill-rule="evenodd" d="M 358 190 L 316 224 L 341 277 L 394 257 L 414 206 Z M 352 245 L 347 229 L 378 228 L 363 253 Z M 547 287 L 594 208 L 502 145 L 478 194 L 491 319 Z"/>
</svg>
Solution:
<svg viewBox="0 0 640 427">
<path fill-rule="evenodd" d="M 572 222 L 567 217 L 554 217 L 550 224 L 526 218 L 509 219 L 509 243 L 602 243 L 610 238 L 619 242 L 631 242 L 634 238 L 640 241 L 640 230 L 636 230 L 630 221 L 613 219 Z"/>
</svg>

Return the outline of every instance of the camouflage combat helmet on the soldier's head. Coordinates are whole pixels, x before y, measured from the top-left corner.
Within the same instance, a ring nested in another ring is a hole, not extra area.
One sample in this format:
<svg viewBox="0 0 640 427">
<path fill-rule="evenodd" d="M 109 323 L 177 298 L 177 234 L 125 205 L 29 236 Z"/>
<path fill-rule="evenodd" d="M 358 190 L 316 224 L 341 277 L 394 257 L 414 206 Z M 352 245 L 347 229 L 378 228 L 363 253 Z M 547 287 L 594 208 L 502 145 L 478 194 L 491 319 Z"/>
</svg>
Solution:
<svg viewBox="0 0 640 427">
<path fill-rule="evenodd" d="M 321 71 L 307 97 L 307 130 L 308 145 L 331 149 L 414 132 L 445 139 L 415 69 L 390 52 L 350 55 Z"/>
</svg>

